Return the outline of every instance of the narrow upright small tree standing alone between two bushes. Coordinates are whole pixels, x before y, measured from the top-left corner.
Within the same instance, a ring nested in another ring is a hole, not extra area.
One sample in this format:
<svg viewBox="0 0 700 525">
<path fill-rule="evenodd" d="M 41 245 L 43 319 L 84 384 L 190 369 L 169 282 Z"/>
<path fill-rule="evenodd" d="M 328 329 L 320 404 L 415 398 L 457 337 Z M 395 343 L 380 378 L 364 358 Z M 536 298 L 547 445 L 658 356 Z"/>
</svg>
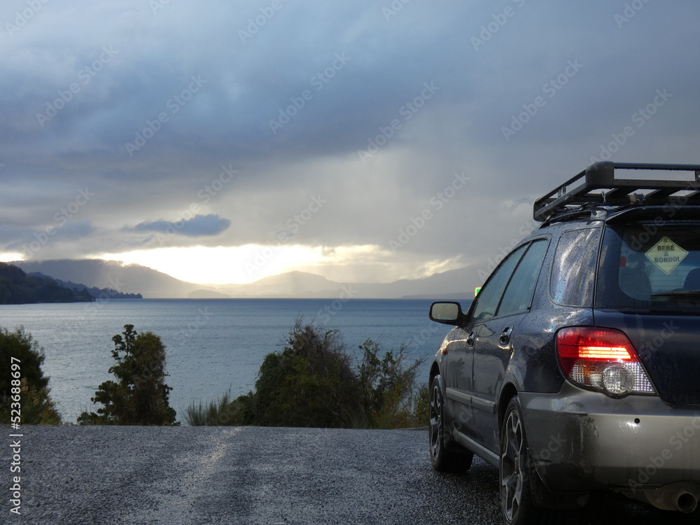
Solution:
<svg viewBox="0 0 700 525">
<path fill-rule="evenodd" d="M 123 336 L 112 337 L 112 357 L 117 364 L 110 367 L 117 381 L 104 381 L 93 403 L 102 407 L 83 412 L 81 425 L 174 425 L 175 410 L 168 403 L 172 387 L 165 384 L 165 345 L 153 332 L 134 331 L 124 325 Z"/>
</svg>

